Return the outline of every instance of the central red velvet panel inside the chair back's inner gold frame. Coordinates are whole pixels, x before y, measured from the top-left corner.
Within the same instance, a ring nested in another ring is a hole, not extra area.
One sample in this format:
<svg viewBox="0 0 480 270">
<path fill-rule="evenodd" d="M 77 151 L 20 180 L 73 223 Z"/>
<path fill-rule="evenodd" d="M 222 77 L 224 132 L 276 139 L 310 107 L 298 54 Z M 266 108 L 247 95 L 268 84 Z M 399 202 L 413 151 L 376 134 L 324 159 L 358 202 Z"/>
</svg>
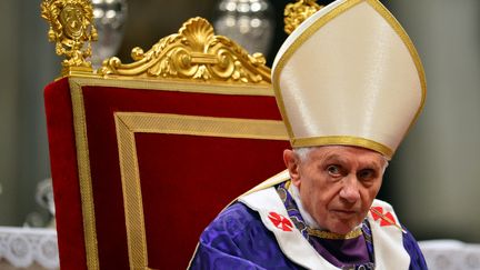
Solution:
<svg viewBox="0 0 480 270">
<path fill-rule="evenodd" d="M 136 142 L 154 269 L 186 269 L 203 229 L 232 199 L 284 168 L 288 147 L 286 141 L 149 133 L 137 134 Z"/>
</svg>

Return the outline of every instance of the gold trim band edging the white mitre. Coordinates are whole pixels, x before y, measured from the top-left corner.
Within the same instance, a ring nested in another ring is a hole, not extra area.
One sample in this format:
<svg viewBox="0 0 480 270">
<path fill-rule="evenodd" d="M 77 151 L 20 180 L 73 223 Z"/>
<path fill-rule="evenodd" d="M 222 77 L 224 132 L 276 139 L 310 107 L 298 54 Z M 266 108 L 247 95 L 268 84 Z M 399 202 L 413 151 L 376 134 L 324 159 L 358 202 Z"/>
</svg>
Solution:
<svg viewBox="0 0 480 270">
<path fill-rule="evenodd" d="M 294 133 L 293 130 L 291 128 L 291 123 L 290 120 L 288 118 L 287 114 L 287 110 L 284 108 L 284 102 L 283 102 L 283 97 L 282 93 L 280 91 L 280 81 L 279 81 L 279 74 L 281 72 L 281 70 L 283 70 L 286 63 L 288 62 L 288 60 L 292 57 L 292 54 L 297 51 L 297 49 L 303 44 L 317 30 L 319 30 L 320 28 L 322 28 L 324 24 L 327 24 L 328 22 L 330 22 L 331 20 L 333 20 L 334 18 L 337 18 L 338 16 L 340 16 L 341 13 L 346 12 L 347 10 L 353 8 L 354 6 L 359 4 L 360 2 L 368 2 L 374 10 L 377 10 L 382 17 L 383 19 L 393 28 L 393 30 L 400 36 L 400 39 L 403 41 L 403 43 L 406 44 L 407 49 L 410 52 L 410 56 L 413 59 L 413 62 L 417 67 L 417 71 L 419 74 L 419 79 L 420 79 L 420 84 L 421 84 L 421 100 L 420 100 L 420 104 L 419 108 L 412 119 L 412 121 L 409 124 L 409 128 L 406 130 L 406 132 L 403 133 L 402 138 L 404 138 L 407 136 L 407 133 L 410 131 L 410 129 L 413 127 L 413 123 L 417 121 L 417 119 L 420 116 L 420 112 L 422 111 L 423 107 L 424 107 L 424 102 L 426 102 L 426 97 L 427 97 L 427 81 L 426 81 L 426 74 L 424 74 L 424 69 L 423 66 L 421 63 L 420 60 L 420 56 L 417 52 L 417 49 L 413 46 L 413 42 L 411 41 L 411 39 L 409 38 L 409 36 L 407 34 L 407 32 L 404 31 L 404 29 L 401 27 L 401 24 L 397 21 L 397 19 L 390 13 L 389 10 L 387 10 L 386 7 L 383 7 L 383 4 L 381 4 L 378 0 L 347 0 L 346 2 L 339 4 L 337 8 L 334 8 L 333 10 L 331 10 L 330 12 L 326 13 L 322 18 L 319 18 L 316 22 L 313 22 L 308 29 L 306 29 L 297 40 L 294 40 L 292 42 L 292 44 L 290 46 L 290 48 L 288 48 L 286 50 L 286 52 L 281 56 L 281 58 L 278 61 L 278 64 L 276 67 L 276 69 L 273 70 L 273 76 L 272 76 L 272 86 L 273 86 L 273 91 L 277 96 L 277 104 L 279 107 L 280 113 L 282 114 L 284 124 L 287 127 L 287 131 L 290 136 L 291 142 L 292 142 L 292 147 L 301 147 L 301 146 L 306 146 L 309 144 L 307 142 L 299 142 L 299 141 L 323 141 L 324 139 L 320 139 L 320 138 L 311 138 L 311 139 L 294 139 Z M 351 137 L 354 138 L 354 137 Z M 359 138 L 359 141 L 366 140 L 362 138 Z M 369 140 L 366 140 L 369 141 Z M 294 143 L 298 144 L 294 144 Z M 373 143 L 371 143 L 373 142 Z M 364 143 L 364 142 L 361 142 Z M 323 143 L 324 144 L 324 143 Z M 343 143 L 344 144 L 344 143 Z M 362 144 L 359 144 L 362 146 Z M 366 147 L 370 148 L 373 147 L 372 149 L 376 151 L 379 151 L 386 156 L 388 156 L 389 159 L 392 158 L 394 150 L 387 148 L 384 146 L 382 146 L 381 143 L 374 142 L 374 141 L 370 141 L 368 143 L 364 143 Z"/>
</svg>

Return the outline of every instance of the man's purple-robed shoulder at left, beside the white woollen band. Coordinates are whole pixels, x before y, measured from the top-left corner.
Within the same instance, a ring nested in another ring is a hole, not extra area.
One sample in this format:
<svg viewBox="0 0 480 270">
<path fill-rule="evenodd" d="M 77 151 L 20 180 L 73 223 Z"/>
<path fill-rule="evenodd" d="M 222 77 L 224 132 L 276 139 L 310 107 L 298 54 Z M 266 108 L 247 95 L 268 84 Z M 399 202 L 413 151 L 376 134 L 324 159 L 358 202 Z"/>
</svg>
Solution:
<svg viewBox="0 0 480 270">
<path fill-rule="evenodd" d="M 240 201 L 226 208 L 203 231 L 192 266 L 192 269 L 299 269 L 283 256 L 259 213 Z"/>
</svg>

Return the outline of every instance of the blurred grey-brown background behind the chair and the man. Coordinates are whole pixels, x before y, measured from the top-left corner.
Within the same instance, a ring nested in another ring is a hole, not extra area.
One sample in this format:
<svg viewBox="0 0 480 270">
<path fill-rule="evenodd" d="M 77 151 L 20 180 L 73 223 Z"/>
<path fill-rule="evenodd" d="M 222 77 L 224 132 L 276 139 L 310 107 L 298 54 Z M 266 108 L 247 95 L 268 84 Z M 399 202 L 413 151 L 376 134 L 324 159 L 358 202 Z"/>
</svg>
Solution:
<svg viewBox="0 0 480 270">
<path fill-rule="evenodd" d="M 0 1 L 0 226 L 48 223 L 49 212 L 39 203 L 42 198 L 36 199 L 48 182 L 43 180 L 50 178 L 42 91 L 59 76 L 62 58 L 48 41 L 40 2 Z M 100 7 L 102 1 L 94 2 Z M 220 0 L 126 2 L 128 8 L 114 6 L 124 12 L 121 22 L 112 22 L 120 23 L 114 26 L 120 36 L 106 41 L 123 62 L 131 61 L 133 47 L 148 50 L 160 38 L 177 33 L 191 17 L 209 19 L 216 33 L 231 31 L 226 27 L 234 24 L 223 20 L 229 12 L 226 1 L 223 6 Z M 250 26 L 267 30 L 259 34 L 243 28 L 240 36 L 231 31 L 231 38 L 248 39 L 244 47 L 261 50 L 271 66 L 287 37 L 283 9 L 289 2 L 270 0 L 268 10 L 258 6 L 261 14 Z M 379 197 L 394 206 L 419 240 L 480 242 L 476 230 L 480 228 L 480 1 L 381 2 L 406 28 L 422 58 L 428 98 L 417 126 L 390 163 Z"/>
</svg>

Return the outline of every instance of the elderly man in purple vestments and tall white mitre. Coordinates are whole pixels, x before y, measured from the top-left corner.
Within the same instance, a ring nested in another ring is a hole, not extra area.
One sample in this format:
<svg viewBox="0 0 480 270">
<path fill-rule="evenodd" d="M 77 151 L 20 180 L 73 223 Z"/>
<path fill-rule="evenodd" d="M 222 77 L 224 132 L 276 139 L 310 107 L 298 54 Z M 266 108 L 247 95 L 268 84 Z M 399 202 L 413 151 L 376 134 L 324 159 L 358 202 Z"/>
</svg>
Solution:
<svg viewBox="0 0 480 270">
<path fill-rule="evenodd" d="M 377 0 L 337 0 L 287 39 L 272 81 L 293 148 L 287 170 L 213 220 L 191 269 L 427 269 L 374 199 L 426 96 L 400 24 Z"/>
</svg>

